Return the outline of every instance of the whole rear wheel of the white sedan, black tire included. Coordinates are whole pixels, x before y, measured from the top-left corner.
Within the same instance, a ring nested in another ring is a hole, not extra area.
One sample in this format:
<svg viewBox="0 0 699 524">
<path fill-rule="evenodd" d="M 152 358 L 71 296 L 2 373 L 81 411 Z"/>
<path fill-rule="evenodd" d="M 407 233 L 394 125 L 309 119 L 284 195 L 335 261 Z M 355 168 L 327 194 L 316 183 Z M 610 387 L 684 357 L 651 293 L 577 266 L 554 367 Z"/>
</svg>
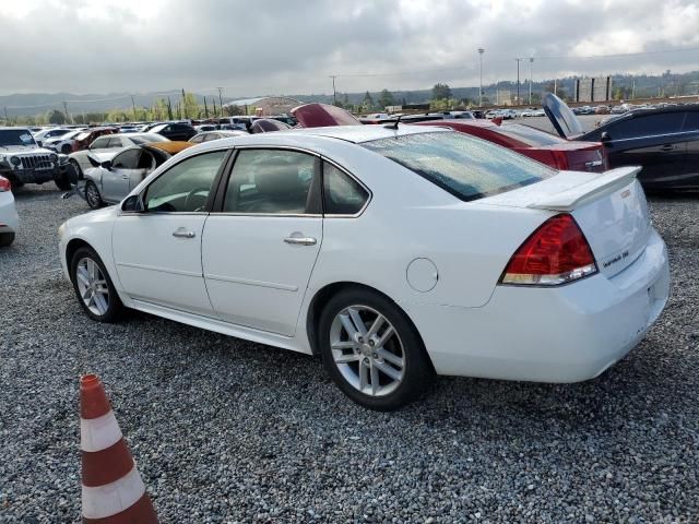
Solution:
<svg viewBox="0 0 699 524">
<path fill-rule="evenodd" d="M 369 289 L 344 289 L 328 301 L 318 323 L 318 343 L 335 384 L 369 409 L 404 406 L 423 393 L 435 374 L 405 313 Z"/>
</svg>

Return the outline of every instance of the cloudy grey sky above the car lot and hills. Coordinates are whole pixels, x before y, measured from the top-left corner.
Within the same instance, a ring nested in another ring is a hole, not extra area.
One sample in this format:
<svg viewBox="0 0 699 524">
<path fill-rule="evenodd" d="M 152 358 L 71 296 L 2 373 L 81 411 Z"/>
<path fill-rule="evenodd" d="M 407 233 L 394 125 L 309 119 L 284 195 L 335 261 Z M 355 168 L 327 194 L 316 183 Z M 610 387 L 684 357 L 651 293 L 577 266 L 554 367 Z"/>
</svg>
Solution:
<svg viewBox="0 0 699 524">
<path fill-rule="evenodd" d="M 535 80 L 699 69 L 697 0 L 2 0 L 0 24 L 0 94 L 474 86 L 479 47 L 484 83 L 517 57 Z"/>
</svg>

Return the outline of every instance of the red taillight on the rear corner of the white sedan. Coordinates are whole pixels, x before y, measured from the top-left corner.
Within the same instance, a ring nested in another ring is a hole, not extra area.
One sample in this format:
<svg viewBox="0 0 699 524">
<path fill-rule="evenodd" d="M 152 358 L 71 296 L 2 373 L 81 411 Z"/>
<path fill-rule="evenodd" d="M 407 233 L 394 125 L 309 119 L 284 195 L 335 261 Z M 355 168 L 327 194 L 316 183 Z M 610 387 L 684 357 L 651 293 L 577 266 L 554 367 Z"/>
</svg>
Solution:
<svg viewBox="0 0 699 524">
<path fill-rule="evenodd" d="M 556 215 L 514 252 L 500 284 L 557 286 L 597 272 L 590 245 L 576 219 Z"/>
</svg>

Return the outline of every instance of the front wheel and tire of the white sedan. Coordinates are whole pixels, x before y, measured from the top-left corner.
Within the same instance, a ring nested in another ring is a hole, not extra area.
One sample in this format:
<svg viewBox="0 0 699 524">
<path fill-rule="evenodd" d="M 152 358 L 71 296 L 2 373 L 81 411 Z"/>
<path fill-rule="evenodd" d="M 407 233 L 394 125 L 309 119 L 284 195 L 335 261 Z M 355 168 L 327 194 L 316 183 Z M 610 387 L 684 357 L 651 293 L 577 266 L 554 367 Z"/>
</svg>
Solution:
<svg viewBox="0 0 699 524">
<path fill-rule="evenodd" d="M 99 255 L 88 247 L 79 248 L 70 261 L 70 279 L 83 311 L 97 322 L 116 322 L 123 303 Z"/>
</svg>

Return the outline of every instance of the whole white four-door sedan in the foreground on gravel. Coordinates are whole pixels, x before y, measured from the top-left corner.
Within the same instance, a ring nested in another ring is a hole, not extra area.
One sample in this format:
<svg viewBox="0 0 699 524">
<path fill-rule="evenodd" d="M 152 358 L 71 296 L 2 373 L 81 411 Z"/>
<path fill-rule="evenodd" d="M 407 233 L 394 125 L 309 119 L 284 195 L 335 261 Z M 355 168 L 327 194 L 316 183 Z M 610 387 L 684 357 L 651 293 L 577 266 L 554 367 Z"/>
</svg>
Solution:
<svg viewBox="0 0 699 524">
<path fill-rule="evenodd" d="M 559 172 L 418 126 L 224 139 L 70 218 L 60 260 L 96 321 L 133 308 L 320 355 L 375 409 L 435 372 L 576 382 L 667 300 L 638 170 Z"/>
</svg>

